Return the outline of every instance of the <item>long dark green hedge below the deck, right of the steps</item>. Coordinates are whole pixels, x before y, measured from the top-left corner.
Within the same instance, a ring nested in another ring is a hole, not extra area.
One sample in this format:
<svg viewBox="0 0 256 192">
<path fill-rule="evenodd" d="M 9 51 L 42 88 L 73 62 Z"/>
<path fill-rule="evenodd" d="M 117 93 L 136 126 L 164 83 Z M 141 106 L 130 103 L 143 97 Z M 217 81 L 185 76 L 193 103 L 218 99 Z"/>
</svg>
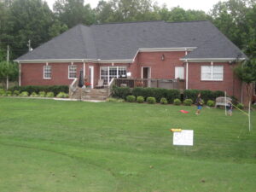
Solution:
<svg viewBox="0 0 256 192">
<path fill-rule="evenodd" d="M 143 96 L 145 99 L 148 97 L 154 97 L 156 102 L 160 102 L 161 98 L 166 98 L 168 103 L 173 103 L 174 99 L 191 99 L 195 102 L 198 93 L 201 92 L 201 98 L 204 101 L 214 101 L 218 96 L 224 96 L 224 91 L 221 90 L 184 90 L 183 95 L 179 90 L 167 90 L 162 88 L 129 88 L 129 87 L 117 87 L 114 86 L 112 90 L 113 97 L 125 99 L 126 96 Z"/>
</svg>

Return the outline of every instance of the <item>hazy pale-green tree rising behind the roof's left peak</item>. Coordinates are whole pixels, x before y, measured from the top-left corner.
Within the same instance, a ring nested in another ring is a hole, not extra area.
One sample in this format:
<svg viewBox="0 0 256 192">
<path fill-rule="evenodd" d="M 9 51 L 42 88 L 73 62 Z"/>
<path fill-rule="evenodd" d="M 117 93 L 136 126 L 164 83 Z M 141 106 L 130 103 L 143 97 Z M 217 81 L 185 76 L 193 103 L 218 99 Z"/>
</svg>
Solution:
<svg viewBox="0 0 256 192">
<path fill-rule="evenodd" d="M 84 5 L 84 0 L 57 0 L 54 12 L 69 28 L 80 23 L 91 25 L 95 22 L 95 13 L 90 4 Z"/>
</svg>

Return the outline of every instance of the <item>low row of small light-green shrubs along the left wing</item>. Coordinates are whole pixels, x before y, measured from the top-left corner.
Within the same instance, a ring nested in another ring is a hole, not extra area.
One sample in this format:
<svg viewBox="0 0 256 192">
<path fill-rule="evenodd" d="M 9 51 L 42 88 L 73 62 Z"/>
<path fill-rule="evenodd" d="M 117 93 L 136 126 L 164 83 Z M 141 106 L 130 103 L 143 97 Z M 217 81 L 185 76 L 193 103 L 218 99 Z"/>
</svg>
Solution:
<svg viewBox="0 0 256 192">
<path fill-rule="evenodd" d="M 31 96 L 31 97 L 55 97 L 55 93 L 52 91 L 45 92 L 45 91 L 39 91 L 38 93 L 32 92 L 31 94 L 28 91 L 19 91 L 19 90 L 3 90 L 0 89 L 0 96 Z M 68 94 L 64 92 L 59 92 L 56 94 L 57 98 L 68 98 Z"/>
</svg>

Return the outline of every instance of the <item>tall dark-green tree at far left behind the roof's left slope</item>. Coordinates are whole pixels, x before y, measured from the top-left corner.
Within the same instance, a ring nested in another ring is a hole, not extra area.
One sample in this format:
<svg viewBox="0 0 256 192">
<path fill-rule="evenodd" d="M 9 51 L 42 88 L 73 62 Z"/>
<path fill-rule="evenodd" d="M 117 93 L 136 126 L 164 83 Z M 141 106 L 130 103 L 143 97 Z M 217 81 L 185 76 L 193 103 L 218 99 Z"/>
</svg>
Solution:
<svg viewBox="0 0 256 192">
<path fill-rule="evenodd" d="M 49 40 L 48 29 L 53 15 L 42 0 L 15 0 L 9 7 L 5 41 L 10 44 L 14 57 L 27 52 L 30 39 L 32 47 Z M 11 59 L 15 59 L 15 58 Z"/>
</svg>

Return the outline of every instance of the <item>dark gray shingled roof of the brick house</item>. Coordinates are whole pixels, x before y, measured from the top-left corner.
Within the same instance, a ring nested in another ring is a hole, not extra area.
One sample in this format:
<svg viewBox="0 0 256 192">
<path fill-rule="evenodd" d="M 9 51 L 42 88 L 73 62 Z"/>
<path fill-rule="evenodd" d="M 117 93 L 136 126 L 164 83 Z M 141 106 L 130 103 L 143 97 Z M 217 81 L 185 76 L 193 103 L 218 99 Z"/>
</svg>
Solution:
<svg viewBox="0 0 256 192">
<path fill-rule="evenodd" d="M 197 47 L 185 58 L 246 58 L 209 21 L 131 22 L 74 26 L 22 60 L 133 59 L 139 48 Z"/>
</svg>

